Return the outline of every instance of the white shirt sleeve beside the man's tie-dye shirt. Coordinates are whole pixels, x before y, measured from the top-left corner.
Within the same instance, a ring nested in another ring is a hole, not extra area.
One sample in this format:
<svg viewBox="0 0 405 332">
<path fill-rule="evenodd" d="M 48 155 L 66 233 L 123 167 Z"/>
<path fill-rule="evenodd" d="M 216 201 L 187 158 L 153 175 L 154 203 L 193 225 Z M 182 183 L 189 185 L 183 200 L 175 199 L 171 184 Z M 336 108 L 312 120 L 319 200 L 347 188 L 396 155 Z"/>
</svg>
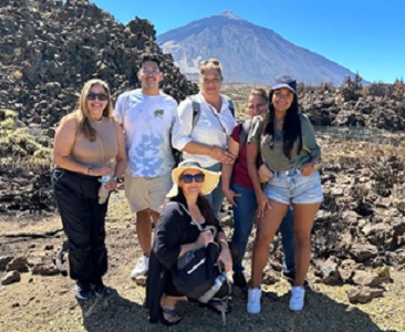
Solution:
<svg viewBox="0 0 405 332">
<path fill-rule="evenodd" d="M 177 116 L 173 126 L 172 145 L 178 151 L 190 143 L 193 132 L 193 103 L 190 100 L 183 101 L 177 108 Z"/>
</svg>

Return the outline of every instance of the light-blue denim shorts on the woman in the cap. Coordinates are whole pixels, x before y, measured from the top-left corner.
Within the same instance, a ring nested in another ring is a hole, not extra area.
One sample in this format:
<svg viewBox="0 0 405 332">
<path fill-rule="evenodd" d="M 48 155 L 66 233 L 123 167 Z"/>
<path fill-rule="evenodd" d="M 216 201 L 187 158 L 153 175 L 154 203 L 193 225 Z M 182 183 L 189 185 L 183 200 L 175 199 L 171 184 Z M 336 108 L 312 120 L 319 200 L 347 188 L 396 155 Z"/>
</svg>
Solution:
<svg viewBox="0 0 405 332">
<path fill-rule="evenodd" d="M 271 200 L 288 205 L 321 203 L 321 177 L 318 170 L 309 176 L 303 176 L 299 169 L 276 172 L 264 187 L 264 195 Z"/>
</svg>

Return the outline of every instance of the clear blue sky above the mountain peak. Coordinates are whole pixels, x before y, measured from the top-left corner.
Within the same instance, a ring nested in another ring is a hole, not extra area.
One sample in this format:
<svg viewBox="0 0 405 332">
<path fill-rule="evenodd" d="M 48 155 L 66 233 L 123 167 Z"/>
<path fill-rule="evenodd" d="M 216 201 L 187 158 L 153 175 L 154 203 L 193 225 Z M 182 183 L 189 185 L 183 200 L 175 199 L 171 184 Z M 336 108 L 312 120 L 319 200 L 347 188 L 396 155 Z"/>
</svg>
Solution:
<svg viewBox="0 0 405 332">
<path fill-rule="evenodd" d="M 405 80 L 405 0 L 94 0 L 127 23 L 149 20 L 160 34 L 230 10 L 370 82 Z"/>
</svg>

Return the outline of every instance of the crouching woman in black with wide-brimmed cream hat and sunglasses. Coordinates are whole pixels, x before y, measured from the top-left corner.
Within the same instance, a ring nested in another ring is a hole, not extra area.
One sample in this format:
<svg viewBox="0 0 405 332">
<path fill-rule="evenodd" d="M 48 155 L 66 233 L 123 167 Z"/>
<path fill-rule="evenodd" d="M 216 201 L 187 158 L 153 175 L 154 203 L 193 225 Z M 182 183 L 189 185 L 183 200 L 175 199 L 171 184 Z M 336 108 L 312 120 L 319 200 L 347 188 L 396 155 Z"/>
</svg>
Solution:
<svg viewBox="0 0 405 332">
<path fill-rule="evenodd" d="M 220 173 L 202 169 L 198 163 L 190 160 L 181 162 L 172 173 L 174 187 L 167 195 L 170 203 L 166 205 L 157 222 L 149 260 L 146 305 L 152 323 L 160 320 L 172 325 L 181 320 L 175 304 L 187 298 L 173 284 L 170 268 L 187 251 L 217 241 L 221 249 L 218 262 L 224 263 L 226 271 L 232 267 L 226 236 L 208 201 L 202 197 L 217 186 L 219 177 Z M 195 222 L 202 228 L 214 226 L 217 228 L 217 237 L 214 238 L 210 230 L 200 231 Z M 209 305 L 218 312 L 229 311 L 222 301 L 210 302 Z"/>
</svg>

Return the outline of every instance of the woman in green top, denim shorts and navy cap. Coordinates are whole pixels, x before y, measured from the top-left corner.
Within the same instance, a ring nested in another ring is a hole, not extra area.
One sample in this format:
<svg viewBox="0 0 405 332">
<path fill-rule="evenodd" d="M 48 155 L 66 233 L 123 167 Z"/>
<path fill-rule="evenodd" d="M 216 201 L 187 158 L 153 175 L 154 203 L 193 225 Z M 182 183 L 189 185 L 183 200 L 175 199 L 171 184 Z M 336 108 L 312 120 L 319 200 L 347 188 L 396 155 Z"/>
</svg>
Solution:
<svg viewBox="0 0 405 332">
<path fill-rule="evenodd" d="M 295 80 L 289 75 L 277 76 L 269 100 L 269 112 L 253 120 L 248 138 L 248 170 L 259 206 L 247 305 L 250 313 L 260 312 L 261 274 L 269 246 L 289 205 L 293 208 L 295 237 L 295 283 L 291 290 L 290 310 L 302 310 L 311 229 L 323 200 L 316 170 L 320 147 L 311 122 L 299 113 Z M 269 170 L 269 181 L 263 189 L 256 165 L 259 153 Z"/>
</svg>

